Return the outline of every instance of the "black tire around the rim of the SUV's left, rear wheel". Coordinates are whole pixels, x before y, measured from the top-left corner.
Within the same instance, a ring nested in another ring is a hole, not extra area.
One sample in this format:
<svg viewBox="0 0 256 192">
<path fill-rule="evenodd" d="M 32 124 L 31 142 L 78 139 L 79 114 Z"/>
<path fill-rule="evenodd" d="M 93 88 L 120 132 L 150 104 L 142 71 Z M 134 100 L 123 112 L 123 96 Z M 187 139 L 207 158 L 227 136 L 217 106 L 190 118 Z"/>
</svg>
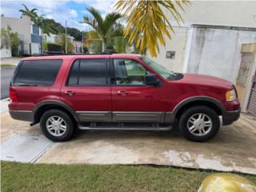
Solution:
<svg viewBox="0 0 256 192">
<path fill-rule="evenodd" d="M 46 128 L 46 122 L 51 117 L 60 117 L 64 121 L 66 125 L 65 132 L 60 136 L 54 136 L 50 134 L 50 132 Z M 74 122 L 70 118 L 68 114 L 66 114 L 62 110 L 47 110 L 44 114 L 42 114 L 42 118 L 40 119 L 40 126 L 42 129 L 42 133 L 49 138 L 53 142 L 66 142 L 68 141 L 72 135 L 74 134 Z"/>
</svg>

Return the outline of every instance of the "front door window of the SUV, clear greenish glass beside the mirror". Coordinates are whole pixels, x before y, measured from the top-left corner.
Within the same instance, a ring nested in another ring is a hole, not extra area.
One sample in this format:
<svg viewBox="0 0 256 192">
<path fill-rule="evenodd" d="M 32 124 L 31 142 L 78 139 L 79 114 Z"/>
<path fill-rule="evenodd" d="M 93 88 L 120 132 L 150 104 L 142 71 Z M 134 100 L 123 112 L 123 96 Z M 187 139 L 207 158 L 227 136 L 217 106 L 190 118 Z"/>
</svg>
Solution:
<svg viewBox="0 0 256 192">
<path fill-rule="evenodd" d="M 116 85 L 146 85 L 144 77 L 150 74 L 140 63 L 131 59 L 114 59 L 114 74 Z"/>
</svg>

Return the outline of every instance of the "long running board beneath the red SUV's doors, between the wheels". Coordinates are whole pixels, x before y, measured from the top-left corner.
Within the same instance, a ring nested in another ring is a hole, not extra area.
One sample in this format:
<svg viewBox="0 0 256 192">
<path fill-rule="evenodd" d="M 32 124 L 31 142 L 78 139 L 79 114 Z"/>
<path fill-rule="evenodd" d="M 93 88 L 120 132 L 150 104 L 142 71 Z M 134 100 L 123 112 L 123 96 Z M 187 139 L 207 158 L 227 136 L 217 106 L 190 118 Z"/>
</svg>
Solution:
<svg viewBox="0 0 256 192">
<path fill-rule="evenodd" d="M 173 126 L 82 126 L 80 130 L 172 130 Z"/>
</svg>

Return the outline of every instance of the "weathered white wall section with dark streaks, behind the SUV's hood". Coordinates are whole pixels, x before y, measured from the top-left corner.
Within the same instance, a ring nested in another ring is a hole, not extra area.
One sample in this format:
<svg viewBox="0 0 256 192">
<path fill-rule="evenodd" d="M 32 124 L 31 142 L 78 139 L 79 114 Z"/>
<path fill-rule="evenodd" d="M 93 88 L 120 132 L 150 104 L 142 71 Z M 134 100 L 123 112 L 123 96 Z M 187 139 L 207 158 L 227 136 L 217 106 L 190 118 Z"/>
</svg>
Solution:
<svg viewBox="0 0 256 192">
<path fill-rule="evenodd" d="M 183 72 L 214 75 L 235 84 L 242 44 L 256 42 L 256 29 L 239 29 L 191 27 Z"/>
</svg>

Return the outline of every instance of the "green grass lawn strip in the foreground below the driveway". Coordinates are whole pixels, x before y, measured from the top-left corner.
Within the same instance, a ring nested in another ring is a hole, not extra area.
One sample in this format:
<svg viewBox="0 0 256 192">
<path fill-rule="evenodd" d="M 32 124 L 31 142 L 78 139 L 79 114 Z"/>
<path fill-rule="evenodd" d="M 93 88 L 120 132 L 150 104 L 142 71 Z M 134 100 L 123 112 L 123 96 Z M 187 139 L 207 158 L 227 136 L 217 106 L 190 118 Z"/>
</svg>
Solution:
<svg viewBox="0 0 256 192">
<path fill-rule="evenodd" d="M 214 171 L 2 162 L 2 191 L 197 191 Z M 256 182 L 256 176 L 242 175 Z"/>
</svg>

